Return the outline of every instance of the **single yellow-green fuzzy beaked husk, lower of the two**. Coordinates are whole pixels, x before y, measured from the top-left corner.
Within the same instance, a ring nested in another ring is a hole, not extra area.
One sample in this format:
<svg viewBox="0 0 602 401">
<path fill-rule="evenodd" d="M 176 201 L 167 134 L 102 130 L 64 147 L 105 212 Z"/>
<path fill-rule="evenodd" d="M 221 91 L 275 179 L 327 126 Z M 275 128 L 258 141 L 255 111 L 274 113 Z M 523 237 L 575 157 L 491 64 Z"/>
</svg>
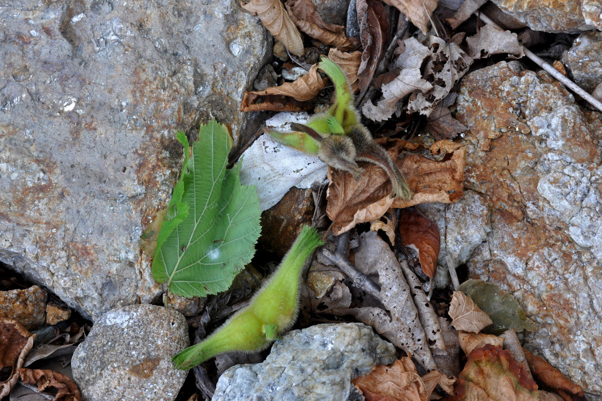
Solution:
<svg viewBox="0 0 602 401">
<path fill-rule="evenodd" d="M 293 325 L 299 313 L 299 281 L 306 259 L 323 245 L 315 229 L 303 227 L 276 272 L 250 304 L 201 343 L 173 357 L 178 369 L 190 369 L 217 354 L 254 352 L 267 347 Z"/>
</svg>

